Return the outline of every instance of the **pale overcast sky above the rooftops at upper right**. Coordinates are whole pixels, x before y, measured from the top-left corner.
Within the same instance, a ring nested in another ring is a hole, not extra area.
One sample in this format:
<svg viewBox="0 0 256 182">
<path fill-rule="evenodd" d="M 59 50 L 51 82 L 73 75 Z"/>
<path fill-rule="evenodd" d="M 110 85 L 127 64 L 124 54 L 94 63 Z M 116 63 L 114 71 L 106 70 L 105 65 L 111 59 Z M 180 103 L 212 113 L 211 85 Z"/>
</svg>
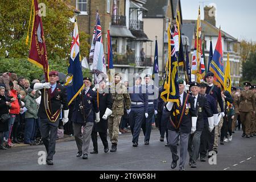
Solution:
<svg viewBox="0 0 256 182">
<path fill-rule="evenodd" d="M 180 0 L 183 19 L 197 19 L 200 5 L 201 19 L 204 6 L 216 6 L 216 27 L 238 40 L 256 42 L 256 1 L 255 0 Z"/>
</svg>

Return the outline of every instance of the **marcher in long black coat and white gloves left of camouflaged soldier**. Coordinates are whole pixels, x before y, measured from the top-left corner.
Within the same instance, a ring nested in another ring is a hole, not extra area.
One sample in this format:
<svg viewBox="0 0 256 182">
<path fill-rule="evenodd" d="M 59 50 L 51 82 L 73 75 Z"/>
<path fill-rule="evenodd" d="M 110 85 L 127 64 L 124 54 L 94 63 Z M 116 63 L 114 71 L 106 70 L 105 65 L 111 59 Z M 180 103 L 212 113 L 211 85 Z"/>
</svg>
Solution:
<svg viewBox="0 0 256 182">
<path fill-rule="evenodd" d="M 96 88 L 98 85 L 96 86 Z M 98 142 L 97 133 L 100 135 L 102 144 L 104 146 L 104 152 L 109 151 L 109 144 L 107 140 L 108 131 L 108 116 L 112 114 L 112 97 L 109 93 L 109 88 L 106 86 L 105 81 L 100 82 L 99 86 L 99 109 L 100 109 L 100 122 L 95 123 L 92 129 L 92 142 L 93 151 L 90 154 L 98 154 Z"/>
</svg>

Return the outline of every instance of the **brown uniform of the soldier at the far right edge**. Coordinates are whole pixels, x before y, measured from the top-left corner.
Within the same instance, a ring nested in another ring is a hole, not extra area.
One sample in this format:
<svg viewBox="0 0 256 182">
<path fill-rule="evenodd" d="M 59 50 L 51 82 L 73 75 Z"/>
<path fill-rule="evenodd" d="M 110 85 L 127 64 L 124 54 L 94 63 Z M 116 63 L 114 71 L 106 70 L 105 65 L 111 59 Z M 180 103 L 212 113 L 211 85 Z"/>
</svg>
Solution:
<svg viewBox="0 0 256 182">
<path fill-rule="evenodd" d="M 242 122 L 243 133 L 250 135 L 251 133 L 251 118 L 253 117 L 253 111 L 255 111 L 255 98 L 254 93 L 251 90 L 242 90 L 239 97 L 239 112 Z"/>
</svg>

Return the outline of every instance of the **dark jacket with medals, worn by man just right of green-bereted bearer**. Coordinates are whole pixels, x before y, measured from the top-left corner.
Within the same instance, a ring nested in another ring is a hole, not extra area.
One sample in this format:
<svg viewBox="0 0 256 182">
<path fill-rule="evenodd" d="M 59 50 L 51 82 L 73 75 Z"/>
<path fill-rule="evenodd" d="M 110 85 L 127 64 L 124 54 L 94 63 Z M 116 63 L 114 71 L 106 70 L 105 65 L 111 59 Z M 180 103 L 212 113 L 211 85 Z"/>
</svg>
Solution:
<svg viewBox="0 0 256 182">
<path fill-rule="evenodd" d="M 196 113 L 197 113 L 197 122 L 196 122 L 196 131 L 203 131 L 204 130 L 204 114 L 207 117 L 212 117 L 212 111 L 210 110 L 209 102 L 207 98 L 202 95 L 198 95 L 197 97 L 197 104 L 196 104 Z"/>
</svg>

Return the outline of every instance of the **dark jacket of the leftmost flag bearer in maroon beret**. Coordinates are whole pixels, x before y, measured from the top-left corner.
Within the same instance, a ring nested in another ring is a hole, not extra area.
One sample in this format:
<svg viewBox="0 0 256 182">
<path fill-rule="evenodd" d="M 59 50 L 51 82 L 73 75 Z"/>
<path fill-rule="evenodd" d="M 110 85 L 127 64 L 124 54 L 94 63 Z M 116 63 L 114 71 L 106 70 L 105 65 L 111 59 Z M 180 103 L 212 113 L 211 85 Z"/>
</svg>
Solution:
<svg viewBox="0 0 256 182">
<path fill-rule="evenodd" d="M 47 118 L 46 108 L 44 107 L 44 90 L 47 89 L 40 90 L 42 93 L 42 98 L 38 110 L 38 116 L 40 118 Z M 61 104 L 63 105 L 63 110 L 68 110 L 67 90 L 64 86 L 57 84 L 51 95 L 52 114 L 56 113 L 56 111 L 60 109 Z"/>
</svg>

